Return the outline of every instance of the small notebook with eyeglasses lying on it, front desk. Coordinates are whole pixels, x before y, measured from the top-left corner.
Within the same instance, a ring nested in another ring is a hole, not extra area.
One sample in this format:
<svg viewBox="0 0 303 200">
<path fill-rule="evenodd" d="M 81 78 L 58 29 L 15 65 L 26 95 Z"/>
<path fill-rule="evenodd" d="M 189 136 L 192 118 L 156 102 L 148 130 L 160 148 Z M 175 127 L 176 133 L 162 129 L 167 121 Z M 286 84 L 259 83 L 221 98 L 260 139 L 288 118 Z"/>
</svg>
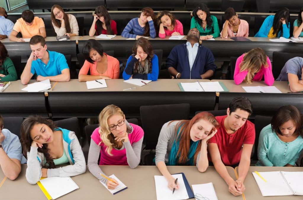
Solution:
<svg viewBox="0 0 303 200">
<path fill-rule="evenodd" d="M 197 195 L 198 197 L 203 196 L 204 198 L 208 198 L 209 200 L 218 200 L 218 196 L 212 182 L 205 184 L 191 185 L 191 187 L 192 190 L 194 191 L 194 194 Z"/>
</svg>

